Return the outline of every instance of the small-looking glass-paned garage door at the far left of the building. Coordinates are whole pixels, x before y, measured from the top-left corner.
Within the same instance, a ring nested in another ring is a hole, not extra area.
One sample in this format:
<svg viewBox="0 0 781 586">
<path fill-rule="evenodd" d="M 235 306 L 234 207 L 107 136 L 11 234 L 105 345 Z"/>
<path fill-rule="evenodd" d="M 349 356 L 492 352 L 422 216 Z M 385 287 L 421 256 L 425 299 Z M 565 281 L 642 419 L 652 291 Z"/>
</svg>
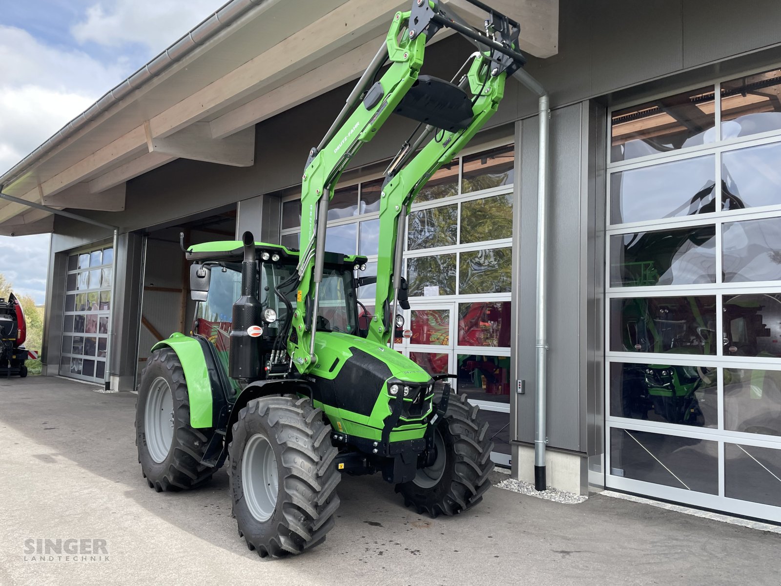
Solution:
<svg viewBox="0 0 781 586">
<path fill-rule="evenodd" d="M 113 262 L 110 246 L 68 256 L 59 363 L 64 377 L 105 380 Z"/>
</svg>

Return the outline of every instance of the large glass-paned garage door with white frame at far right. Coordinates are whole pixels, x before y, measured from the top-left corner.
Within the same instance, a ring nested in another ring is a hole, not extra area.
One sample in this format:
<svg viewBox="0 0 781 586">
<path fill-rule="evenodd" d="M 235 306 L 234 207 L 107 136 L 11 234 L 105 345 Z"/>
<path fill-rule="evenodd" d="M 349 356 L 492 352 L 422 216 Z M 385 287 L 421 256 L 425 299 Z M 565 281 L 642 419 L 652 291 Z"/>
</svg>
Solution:
<svg viewBox="0 0 781 586">
<path fill-rule="evenodd" d="M 781 70 L 612 112 L 612 488 L 781 521 Z"/>
</svg>

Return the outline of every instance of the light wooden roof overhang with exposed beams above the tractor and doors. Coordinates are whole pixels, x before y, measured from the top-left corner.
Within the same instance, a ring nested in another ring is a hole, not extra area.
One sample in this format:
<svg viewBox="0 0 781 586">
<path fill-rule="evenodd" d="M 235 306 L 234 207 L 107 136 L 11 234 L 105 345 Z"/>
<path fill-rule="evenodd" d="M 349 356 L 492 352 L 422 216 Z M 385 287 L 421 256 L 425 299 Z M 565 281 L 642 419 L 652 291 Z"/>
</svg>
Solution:
<svg viewBox="0 0 781 586">
<path fill-rule="evenodd" d="M 173 159 L 251 166 L 255 124 L 360 76 L 410 2 L 312 0 L 302 9 L 233 0 L 0 177 L 0 187 L 59 209 L 116 212 L 127 180 Z M 481 26 L 483 13 L 468 2 L 442 2 Z M 523 51 L 558 51 L 558 0 L 490 4 L 522 24 Z M 51 215 L 0 200 L 0 234 L 52 228 Z"/>
</svg>

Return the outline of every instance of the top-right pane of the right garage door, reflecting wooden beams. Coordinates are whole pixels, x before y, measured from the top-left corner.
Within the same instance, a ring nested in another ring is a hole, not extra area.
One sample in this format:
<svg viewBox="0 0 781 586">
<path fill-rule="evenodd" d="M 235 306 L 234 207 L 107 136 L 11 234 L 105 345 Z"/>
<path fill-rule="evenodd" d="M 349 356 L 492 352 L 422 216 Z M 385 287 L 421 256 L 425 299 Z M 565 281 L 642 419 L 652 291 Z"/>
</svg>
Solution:
<svg viewBox="0 0 781 586">
<path fill-rule="evenodd" d="M 781 70 L 722 82 L 722 138 L 781 128 Z"/>
</svg>

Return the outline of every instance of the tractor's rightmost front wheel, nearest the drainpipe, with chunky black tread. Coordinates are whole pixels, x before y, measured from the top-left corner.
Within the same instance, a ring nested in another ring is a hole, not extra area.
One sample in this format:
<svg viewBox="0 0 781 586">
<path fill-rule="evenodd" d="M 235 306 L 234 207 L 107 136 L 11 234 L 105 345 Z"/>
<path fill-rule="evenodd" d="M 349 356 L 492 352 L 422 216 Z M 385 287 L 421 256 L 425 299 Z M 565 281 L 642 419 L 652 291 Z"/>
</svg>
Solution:
<svg viewBox="0 0 781 586">
<path fill-rule="evenodd" d="M 439 402 L 441 396 L 440 391 L 434 402 Z M 448 410 L 434 430 L 434 463 L 419 469 L 412 481 L 396 485 L 405 506 L 436 518 L 440 514 L 457 515 L 483 500 L 490 487 L 488 474 L 494 469 L 490 460 L 494 442 L 488 438 L 488 423 L 479 412 L 466 395 L 450 396 Z"/>
</svg>

